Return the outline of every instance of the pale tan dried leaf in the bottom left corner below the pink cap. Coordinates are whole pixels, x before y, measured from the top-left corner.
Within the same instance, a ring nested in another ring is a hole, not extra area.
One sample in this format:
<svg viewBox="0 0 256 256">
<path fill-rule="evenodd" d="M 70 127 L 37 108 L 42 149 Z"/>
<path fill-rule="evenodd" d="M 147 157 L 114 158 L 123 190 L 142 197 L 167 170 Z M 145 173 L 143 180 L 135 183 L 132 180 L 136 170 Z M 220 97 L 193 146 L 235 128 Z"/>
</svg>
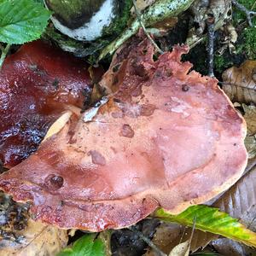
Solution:
<svg viewBox="0 0 256 256">
<path fill-rule="evenodd" d="M 17 236 L 23 236 L 20 243 L 7 239 L 0 241 L 0 255 L 51 256 L 67 246 L 67 230 L 59 230 L 32 219 L 28 220 L 25 230 L 17 231 Z"/>
</svg>

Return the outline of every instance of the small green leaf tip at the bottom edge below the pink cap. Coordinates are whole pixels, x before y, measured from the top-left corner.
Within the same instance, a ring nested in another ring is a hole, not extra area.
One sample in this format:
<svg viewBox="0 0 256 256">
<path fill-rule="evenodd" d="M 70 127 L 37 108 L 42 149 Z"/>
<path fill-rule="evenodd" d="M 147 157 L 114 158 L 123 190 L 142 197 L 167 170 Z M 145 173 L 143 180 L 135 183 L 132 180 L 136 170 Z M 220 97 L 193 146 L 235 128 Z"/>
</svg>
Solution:
<svg viewBox="0 0 256 256">
<path fill-rule="evenodd" d="M 96 234 L 82 236 L 73 243 L 73 247 L 65 248 L 57 256 L 105 256 L 105 244 Z"/>
</svg>

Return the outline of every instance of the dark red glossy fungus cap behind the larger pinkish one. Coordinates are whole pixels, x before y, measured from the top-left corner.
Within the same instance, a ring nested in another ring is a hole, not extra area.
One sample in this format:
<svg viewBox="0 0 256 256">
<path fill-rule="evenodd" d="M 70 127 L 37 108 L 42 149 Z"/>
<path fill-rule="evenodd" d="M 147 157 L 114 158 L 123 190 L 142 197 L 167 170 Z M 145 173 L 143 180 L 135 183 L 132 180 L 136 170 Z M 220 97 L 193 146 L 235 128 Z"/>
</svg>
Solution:
<svg viewBox="0 0 256 256">
<path fill-rule="evenodd" d="M 88 65 L 44 44 L 25 44 L 0 72 L 0 160 L 12 167 L 34 152 L 49 125 L 90 95 Z"/>
</svg>

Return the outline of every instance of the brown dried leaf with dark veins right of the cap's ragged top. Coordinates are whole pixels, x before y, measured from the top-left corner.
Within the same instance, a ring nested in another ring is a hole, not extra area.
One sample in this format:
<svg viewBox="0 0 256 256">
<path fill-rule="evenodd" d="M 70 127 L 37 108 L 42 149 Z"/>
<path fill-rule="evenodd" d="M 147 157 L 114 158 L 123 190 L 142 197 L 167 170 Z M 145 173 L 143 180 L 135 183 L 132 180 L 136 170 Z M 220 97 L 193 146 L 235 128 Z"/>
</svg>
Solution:
<svg viewBox="0 0 256 256">
<path fill-rule="evenodd" d="M 224 71 L 223 90 L 232 102 L 256 103 L 256 61 L 245 61 L 240 67 Z"/>
</svg>

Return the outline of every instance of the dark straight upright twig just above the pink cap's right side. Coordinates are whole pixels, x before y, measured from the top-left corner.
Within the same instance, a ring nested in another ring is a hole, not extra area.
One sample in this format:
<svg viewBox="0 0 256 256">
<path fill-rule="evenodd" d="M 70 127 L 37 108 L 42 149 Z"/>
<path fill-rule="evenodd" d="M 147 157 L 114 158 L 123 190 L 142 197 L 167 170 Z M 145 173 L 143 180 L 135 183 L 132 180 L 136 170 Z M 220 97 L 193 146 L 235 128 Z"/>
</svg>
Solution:
<svg viewBox="0 0 256 256">
<path fill-rule="evenodd" d="M 211 15 L 207 18 L 207 54 L 208 54 L 208 75 L 214 77 L 213 67 L 214 67 L 214 17 Z"/>
</svg>

